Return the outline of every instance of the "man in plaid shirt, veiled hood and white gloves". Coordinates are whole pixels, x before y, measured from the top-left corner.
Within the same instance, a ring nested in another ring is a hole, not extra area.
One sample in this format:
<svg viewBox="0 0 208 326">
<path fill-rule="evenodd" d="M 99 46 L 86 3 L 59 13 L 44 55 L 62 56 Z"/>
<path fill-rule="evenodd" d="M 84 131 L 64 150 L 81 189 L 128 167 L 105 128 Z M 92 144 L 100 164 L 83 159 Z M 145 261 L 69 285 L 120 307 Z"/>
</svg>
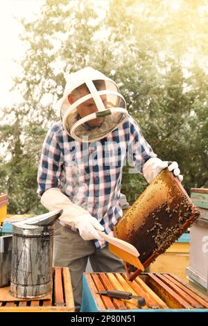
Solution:
<svg viewBox="0 0 208 326">
<path fill-rule="evenodd" d="M 113 235 L 122 216 L 127 157 L 149 183 L 168 162 L 157 158 L 128 114 L 119 87 L 100 71 L 87 67 L 69 74 L 58 108 L 61 121 L 44 140 L 37 192 L 47 209 L 64 209 L 55 225 L 54 265 L 69 266 L 78 311 L 88 258 L 94 272 L 124 271 L 97 230 Z M 176 162 L 168 169 L 182 180 Z"/>
</svg>

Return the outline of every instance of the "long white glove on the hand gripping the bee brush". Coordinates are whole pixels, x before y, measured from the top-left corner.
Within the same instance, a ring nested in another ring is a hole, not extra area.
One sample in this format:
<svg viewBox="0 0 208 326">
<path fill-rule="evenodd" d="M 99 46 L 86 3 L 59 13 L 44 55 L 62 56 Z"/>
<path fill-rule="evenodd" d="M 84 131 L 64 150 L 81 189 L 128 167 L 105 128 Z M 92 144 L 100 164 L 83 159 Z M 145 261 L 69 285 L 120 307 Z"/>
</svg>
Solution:
<svg viewBox="0 0 208 326">
<path fill-rule="evenodd" d="M 53 211 L 55 209 L 63 209 L 60 216 L 62 224 L 69 224 L 78 228 L 80 236 L 84 240 L 98 239 L 103 242 L 96 230 L 104 231 L 103 226 L 98 220 L 87 212 L 83 207 L 75 205 L 59 188 L 51 188 L 44 192 L 40 202 L 44 207 Z"/>
</svg>

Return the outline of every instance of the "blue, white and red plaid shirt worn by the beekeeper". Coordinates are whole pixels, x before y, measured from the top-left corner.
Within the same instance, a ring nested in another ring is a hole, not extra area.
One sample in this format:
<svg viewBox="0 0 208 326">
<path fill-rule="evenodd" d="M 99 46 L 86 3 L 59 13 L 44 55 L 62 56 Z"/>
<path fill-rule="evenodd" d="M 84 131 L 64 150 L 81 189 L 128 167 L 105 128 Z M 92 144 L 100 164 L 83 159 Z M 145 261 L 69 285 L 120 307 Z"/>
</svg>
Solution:
<svg viewBox="0 0 208 326">
<path fill-rule="evenodd" d="M 37 194 L 42 196 L 47 189 L 59 187 L 113 234 L 112 228 L 122 216 L 119 196 L 123 166 L 128 162 L 134 167 L 130 173 L 141 173 L 144 163 L 155 156 L 130 116 L 107 137 L 92 143 L 75 141 L 60 121 L 44 140 Z M 96 248 L 102 248 L 99 241 L 94 242 Z"/>
</svg>

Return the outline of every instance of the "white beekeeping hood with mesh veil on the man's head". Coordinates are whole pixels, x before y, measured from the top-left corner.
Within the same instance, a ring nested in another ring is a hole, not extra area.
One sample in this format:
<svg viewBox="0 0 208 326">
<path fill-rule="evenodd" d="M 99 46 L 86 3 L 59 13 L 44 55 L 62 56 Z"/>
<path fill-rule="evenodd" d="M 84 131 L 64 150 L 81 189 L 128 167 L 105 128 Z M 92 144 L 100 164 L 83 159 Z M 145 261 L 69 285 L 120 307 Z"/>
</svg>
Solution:
<svg viewBox="0 0 208 326">
<path fill-rule="evenodd" d="M 69 94 L 72 103 L 69 103 Z M 69 74 L 58 110 L 64 130 L 78 141 L 100 140 L 128 117 L 119 87 L 91 67 Z"/>
</svg>

